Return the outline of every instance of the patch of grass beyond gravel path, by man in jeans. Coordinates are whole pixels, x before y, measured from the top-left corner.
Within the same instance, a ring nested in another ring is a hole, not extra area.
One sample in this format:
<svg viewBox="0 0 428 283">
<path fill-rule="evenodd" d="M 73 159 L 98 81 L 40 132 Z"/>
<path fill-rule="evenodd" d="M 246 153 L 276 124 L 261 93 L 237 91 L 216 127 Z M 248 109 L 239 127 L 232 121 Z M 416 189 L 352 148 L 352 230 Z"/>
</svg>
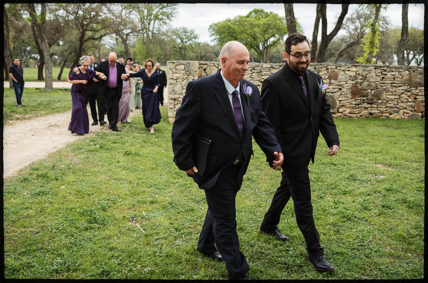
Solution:
<svg viewBox="0 0 428 283">
<path fill-rule="evenodd" d="M 71 110 L 70 89 L 54 89 L 52 92 L 44 92 L 43 88 L 25 87 L 21 101 L 27 107 L 17 106 L 14 89 L 4 89 L 3 124 Z"/>
</svg>

